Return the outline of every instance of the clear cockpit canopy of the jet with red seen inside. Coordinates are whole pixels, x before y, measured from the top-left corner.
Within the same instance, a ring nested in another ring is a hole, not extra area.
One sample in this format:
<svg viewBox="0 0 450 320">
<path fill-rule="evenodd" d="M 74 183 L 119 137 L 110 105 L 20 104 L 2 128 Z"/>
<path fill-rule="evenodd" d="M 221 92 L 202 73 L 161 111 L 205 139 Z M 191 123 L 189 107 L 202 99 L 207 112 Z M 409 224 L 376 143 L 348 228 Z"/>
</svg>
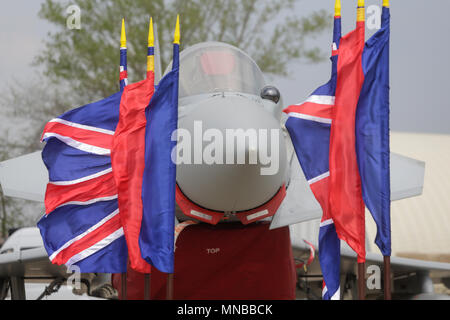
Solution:
<svg viewBox="0 0 450 320">
<path fill-rule="evenodd" d="M 243 51 L 225 43 L 206 42 L 183 50 L 180 66 L 180 98 L 214 92 L 259 96 L 265 85 L 257 64 Z"/>
</svg>

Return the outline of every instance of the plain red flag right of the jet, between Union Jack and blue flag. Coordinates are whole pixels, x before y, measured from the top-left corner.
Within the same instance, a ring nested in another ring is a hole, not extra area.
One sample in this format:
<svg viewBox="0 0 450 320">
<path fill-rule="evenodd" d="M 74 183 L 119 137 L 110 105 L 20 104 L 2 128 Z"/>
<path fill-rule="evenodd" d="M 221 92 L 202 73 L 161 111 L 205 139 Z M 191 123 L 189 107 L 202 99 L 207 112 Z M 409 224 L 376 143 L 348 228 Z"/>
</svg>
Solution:
<svg viewBox="0 0 450 320">
<path fill-rule="evenodd" d="M 365 23 L 343 37 L 339 46 L 336 101 L 330 137 L 330 206 L 340 239 L 365 261 L 365 217 L 356 158 L 355 118 L 364 82 L 362 52 Z"/>
</svg>

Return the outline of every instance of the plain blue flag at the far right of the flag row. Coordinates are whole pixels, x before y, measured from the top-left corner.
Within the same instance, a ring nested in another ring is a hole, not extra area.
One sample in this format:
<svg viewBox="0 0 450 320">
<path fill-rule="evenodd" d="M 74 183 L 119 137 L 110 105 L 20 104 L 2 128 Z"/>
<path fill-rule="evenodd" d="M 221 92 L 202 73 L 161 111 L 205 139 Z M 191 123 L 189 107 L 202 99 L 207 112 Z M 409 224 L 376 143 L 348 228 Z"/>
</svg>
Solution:
<svg viewBox="0 0 450 320">
<path fill-rule="evenodd" d="M 363 52 L 364 85 L 356 113 L 356 150 L 364 202 L 376 225 L 375 243 L 391 255 L 389 147 L 390 10 L 383 7 L 382 27 Z"/>
</svg>

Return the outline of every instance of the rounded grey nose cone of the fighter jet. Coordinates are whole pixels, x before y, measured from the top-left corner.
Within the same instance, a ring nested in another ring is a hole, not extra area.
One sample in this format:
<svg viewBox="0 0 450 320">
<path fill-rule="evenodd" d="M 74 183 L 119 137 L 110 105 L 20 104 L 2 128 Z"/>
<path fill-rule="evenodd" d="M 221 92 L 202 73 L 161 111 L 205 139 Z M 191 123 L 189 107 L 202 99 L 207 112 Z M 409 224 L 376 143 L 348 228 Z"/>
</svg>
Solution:
<svg viewBox="0 0 450 320">
<path fill-rule="evenodd" d="M 287 165 L 278 120 L 241 96 L 213 97 L 190 108 L 179 119 L 177 145 L 177 183 L 184 195 L 226 212 L 269 201 L 284 184 Z"/>
</svg>

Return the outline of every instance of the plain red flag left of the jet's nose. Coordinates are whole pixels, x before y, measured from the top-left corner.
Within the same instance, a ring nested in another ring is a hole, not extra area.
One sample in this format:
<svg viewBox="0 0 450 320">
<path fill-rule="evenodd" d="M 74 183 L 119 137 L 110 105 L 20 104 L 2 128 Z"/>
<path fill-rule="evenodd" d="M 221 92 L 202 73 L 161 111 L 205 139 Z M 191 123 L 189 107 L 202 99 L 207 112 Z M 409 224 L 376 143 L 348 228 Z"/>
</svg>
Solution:
<svg viewBox="0 0 450 320">
<path fill-rule="evenodd" d="M 145 109 L 153 96 L 153 73 L 146 80 L 125 87 L 120 118 L 113 138 L 111 160 L 118 189 L 120 219 L 132 269 L 150 273 L 141 257 L 139 232 L 142 221 L 142 176 L 145 168 Z"/>
</svg>

